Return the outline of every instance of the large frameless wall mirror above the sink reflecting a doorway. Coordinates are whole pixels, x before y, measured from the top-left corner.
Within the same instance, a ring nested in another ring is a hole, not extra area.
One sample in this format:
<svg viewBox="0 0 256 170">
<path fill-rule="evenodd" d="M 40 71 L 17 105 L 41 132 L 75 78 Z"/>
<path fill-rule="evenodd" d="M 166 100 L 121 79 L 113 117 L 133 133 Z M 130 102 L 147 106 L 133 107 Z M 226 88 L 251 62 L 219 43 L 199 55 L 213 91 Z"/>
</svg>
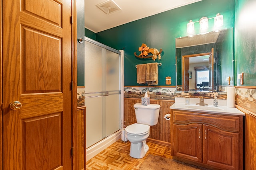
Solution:
<svg viewBox="0 0 256 170">
<path fill-rule="evenodd" d="M 222 92 L 234 85 L 232 28 L 176 38 L 175 44 L 177 91 Z"/>
</svg>

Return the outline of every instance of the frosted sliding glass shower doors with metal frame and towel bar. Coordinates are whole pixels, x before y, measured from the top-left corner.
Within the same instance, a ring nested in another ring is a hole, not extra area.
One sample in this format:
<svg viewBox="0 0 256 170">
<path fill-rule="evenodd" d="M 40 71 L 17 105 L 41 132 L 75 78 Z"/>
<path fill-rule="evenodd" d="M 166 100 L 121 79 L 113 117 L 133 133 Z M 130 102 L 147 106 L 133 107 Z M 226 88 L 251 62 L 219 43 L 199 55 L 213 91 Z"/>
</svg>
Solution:
<svg viewBox="0 0 256 170">
<path fill-rule="evenodd" d="M 120 131 L 124 92 L 123 51 L 87 37 L 84 42 L 86 148 L 88 149 Z"/>
</svg>

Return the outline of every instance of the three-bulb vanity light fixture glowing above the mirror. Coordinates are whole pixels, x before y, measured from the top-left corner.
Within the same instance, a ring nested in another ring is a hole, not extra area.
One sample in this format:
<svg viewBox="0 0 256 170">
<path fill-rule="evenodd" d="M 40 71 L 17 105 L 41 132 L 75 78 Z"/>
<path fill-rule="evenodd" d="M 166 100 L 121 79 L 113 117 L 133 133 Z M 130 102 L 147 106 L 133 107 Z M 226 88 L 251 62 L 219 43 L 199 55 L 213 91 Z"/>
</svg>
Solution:
<svg viewBox="0 0 256 170">
<path fill-rule="evenodd" d="M 199 21 L 195 21 L 195 22 L 190 20 L 187 23 L 187 33 L 189 33 L 189 34 L 194 33 L 194 23 L 196 23 L 196 22 L 199 22 L 201 31 L 208 29 L 208 27 L 209 27 L 208 20 L 213 19 L 213 18 L 214 18 L 214 27 L 220 27 L 223 25 L 223 16 L 220 15 L 220 13 L 218 13 L 218 14 L 216 14 L 216 17 L 212 17 L 212 18 L 202 17 Z"/>
</svg>

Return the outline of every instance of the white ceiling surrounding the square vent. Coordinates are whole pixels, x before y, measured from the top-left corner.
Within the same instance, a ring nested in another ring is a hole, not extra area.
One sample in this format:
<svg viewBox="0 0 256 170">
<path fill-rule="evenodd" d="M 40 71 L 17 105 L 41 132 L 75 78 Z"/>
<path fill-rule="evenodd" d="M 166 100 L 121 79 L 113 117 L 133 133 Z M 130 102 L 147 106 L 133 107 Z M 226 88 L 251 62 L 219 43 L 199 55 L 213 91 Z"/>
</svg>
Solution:
<svg viewBox="0 0 256 170">
<path fill-rule="evenodd" d="M 111 14 L 97 7 L 106 1 L 84 0 L 85 27 L 94 33 L 201 0 L 112 0 L 121 10 Z"/>
</svg>

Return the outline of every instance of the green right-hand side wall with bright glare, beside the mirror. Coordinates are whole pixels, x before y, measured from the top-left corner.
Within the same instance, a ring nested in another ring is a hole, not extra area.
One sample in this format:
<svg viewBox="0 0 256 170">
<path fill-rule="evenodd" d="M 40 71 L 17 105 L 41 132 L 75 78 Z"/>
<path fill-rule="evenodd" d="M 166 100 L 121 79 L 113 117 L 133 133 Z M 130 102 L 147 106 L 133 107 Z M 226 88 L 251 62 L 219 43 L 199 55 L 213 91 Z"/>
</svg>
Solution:
<svg viewBox="0 0 256 170">
<path fill-rule="evenodd" d="M 236 0 L 235 80 L 244 72 L 244 85 L 256 86 L 256 1 Z M 250 20 L 249 20 L 250 19 Z M 235 85 L 240 86 L 239 80 Z"/>
</svg>

